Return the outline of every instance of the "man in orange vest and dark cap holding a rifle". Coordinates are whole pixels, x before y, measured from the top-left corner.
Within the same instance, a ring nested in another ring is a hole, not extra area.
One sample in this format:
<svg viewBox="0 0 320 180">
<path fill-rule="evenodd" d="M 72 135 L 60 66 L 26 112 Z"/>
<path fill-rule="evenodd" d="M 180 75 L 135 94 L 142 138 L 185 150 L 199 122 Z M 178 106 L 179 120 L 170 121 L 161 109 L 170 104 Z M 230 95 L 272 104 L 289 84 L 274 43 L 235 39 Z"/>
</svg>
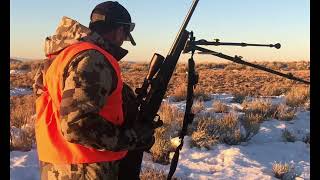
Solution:
<svg viewBox="0 0 320 180">
<path fill-rule="evenodd" d="M 128 11 L 107 1 L 93 9 L 90 20 L 87 28 L 63 17 L 45 40 L 48 59 L 34 84 L 42 180 L 139 179 L 140 167 L 128 162 L 135 154 L 128 158 L 128 151 L 154 143 L 154 129 L 134 118 L 135 94 L 118 64 L 128 53 L 123 41 L 135 45 Z"/>
</svg>

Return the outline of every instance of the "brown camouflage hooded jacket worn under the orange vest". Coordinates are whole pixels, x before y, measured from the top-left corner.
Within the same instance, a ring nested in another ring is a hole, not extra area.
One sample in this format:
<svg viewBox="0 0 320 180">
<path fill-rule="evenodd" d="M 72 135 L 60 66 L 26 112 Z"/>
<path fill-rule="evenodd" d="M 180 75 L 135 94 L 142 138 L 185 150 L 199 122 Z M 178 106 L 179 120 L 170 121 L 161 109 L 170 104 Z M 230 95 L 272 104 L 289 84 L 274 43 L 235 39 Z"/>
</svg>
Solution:
<svg viewBox="0 0 320 180">
<path fill-rule="evenodd" d="M 128 51 L 106 42 L 100 35 L 75 20 L 63 17 L 56 34 L 45 40 L 45 54 L 57 55 L 61 50 L 79 41 L 92 42 L 106 49 L 117 60 Z M 48 59 L 35 77 L 34 90 L 43 88 L 42 74 L 50 66 Z M 117 126 L 103 119 L 98 112 L 105 104 L 106 95 L 117 84 L 117 76 L 103 54 L 86 50 L 76 55 L 63 75 L 63 92 L 60 107 L 61 132 L 72 143 L 99 150 L 133 150 L 139 144 L 137 132 L 127 126 Z M 76 93 L 75 93 L 76 92 Z M 123 87 L 124 119 L 136 109 L 132 101 L 135 94 L 129 86 Z M 130 108 L 129 108 L 130 107 Z M 131 111 L 131 112 L 129 112 Z"/>
</svg>

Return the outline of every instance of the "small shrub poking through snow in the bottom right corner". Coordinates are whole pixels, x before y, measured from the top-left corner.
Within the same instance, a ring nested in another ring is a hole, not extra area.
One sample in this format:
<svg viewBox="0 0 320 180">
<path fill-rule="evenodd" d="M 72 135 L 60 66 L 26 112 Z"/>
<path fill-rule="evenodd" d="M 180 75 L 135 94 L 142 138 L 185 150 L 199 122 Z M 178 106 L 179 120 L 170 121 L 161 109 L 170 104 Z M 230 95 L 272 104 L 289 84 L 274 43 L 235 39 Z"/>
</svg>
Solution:
<svg viewBox="0 0 320 180">
<path fill-rule="evenodd" d="M 284 180 L 294 180 L 297 176 L 299 176 L 299 174 L 295 172 L 293 165 L 281 162 L 274 162 L 272 164 L 272 172 L 274 177 Z"/>
</svg>

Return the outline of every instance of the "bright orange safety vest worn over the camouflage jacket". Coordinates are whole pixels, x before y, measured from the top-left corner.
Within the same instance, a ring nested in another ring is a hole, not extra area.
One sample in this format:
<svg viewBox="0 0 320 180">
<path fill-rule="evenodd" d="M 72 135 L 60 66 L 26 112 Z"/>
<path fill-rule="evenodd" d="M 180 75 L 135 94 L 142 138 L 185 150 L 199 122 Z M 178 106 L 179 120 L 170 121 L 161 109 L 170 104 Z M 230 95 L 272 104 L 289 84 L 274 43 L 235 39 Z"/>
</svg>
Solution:
<svg viewBox="0 0 320 180">
<path fill-rule="evenodd" d="M 110 96 L 106 96 L 106 104 L 99 114 L 115 125 L 121 125 L 124 121 L 121 94 L 123 81 L 118 61 L 110 53 L 94 44 L 80 42 L 71 45 L 53 60 L 43 76 L 46 89 L 36 100 L 35 132 L 38 156 L 41 161 L 60 164 L 95 163 L 119 160 L 127 154 L 127 151 L 99 151 L 70 143 L 61 133 L 62 75 L 71 59 L 81 51 L 88 49 L 95 49 L 104 54 L 118 77 L 116 89 Z"/>
</svg>

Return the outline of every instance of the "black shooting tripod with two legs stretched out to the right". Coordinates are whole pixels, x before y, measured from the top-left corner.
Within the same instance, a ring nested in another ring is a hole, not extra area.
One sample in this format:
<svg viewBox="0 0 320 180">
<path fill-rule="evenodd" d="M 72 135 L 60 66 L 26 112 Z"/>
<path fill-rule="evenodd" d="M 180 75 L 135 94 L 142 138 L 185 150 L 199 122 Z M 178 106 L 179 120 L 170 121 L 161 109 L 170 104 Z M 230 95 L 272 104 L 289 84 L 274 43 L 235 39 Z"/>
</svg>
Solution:
<svg viewBox="0 0 320 180">
<path fill-rule="evenodd" d="M 188 125 L 192 123 L 193 118 L 194 118 L 194 114 L 191 112 L 192 109 L 192 105 L 193 105 L 193 90 L 196 86 L 196 84 L 198 83 L 198 78 L 199 75 L 196 73 L 195 71 L 195 62 L 193 59 L 193 55 L 195 53 L 195 51 L 200 51 L 199 54 L 211 54 L 214 56 L 218 56 L 220 58 L 224 58 L 230 61 L 233 61 L 235 63 L 239 63 L 239 64 L 244 64 L 244 65 L 248 65 L 263 71 L 267 71 L 269 73 L 272 74 L 276 74 L 294 81 L 299 81 L 305 84 L 310 84 L 310 82 L 294 77 L 292 74 L 284 74 L 263 66 L 259 66 L 256 64 L 252 64 L 246 61 L 243 61 L 242 58 L 240 56 L 235 56 L 235 57 L 231 57 L 222 53 L 218 53 L 209 49 L 205 49 L 202 47 L 199 47 L 198 45 L 215 45 L 215 46 L 219 46 L 219 45 L 231 45 L 231 46 L 266 46 L 266 47 L 275 47 L 277 49 L 279 49 L 281 47 L 281 45 L 279 43 L 277 44 L 247 44 L 247 43 L 230 43 L 230 42 L 219 42 L 219 40 L 216 40 L 214 42 L 209 42 L 206 40 L 199 40 L 199 41 L 195 41 L 195 37 L 193 36 L 193 32 L 190 32 L 190 40 L 187 42 L 185 48 L 184 48 L 184 53 L 188 53 L 191 52 L 191 58 L 188 61 L 188 85 L 187 85 L 187 102 L 186 102 L 186 110 L 185 110 L 185 114 L 184 114 L 184 119 L 183 119 L 183 125 L 182 125 L 182 129 L 180 131 L 179 134 L 179 138 L 180 138 L 180 145 L 176 148 L 174 156 L 172 158 L 171 161 L 171 165 L 170 165 L 170 171 L 169 174 L 167 176 L 167 179 L 170 180 L 177 168 L 178 165 L 178 160 L 179 160 L 179 154 L 180 154 L 180 150 L 183 147 L 183 140 L 184 140 L 184 136 L 187 134 L 187 128 Z"/>
</svg>

